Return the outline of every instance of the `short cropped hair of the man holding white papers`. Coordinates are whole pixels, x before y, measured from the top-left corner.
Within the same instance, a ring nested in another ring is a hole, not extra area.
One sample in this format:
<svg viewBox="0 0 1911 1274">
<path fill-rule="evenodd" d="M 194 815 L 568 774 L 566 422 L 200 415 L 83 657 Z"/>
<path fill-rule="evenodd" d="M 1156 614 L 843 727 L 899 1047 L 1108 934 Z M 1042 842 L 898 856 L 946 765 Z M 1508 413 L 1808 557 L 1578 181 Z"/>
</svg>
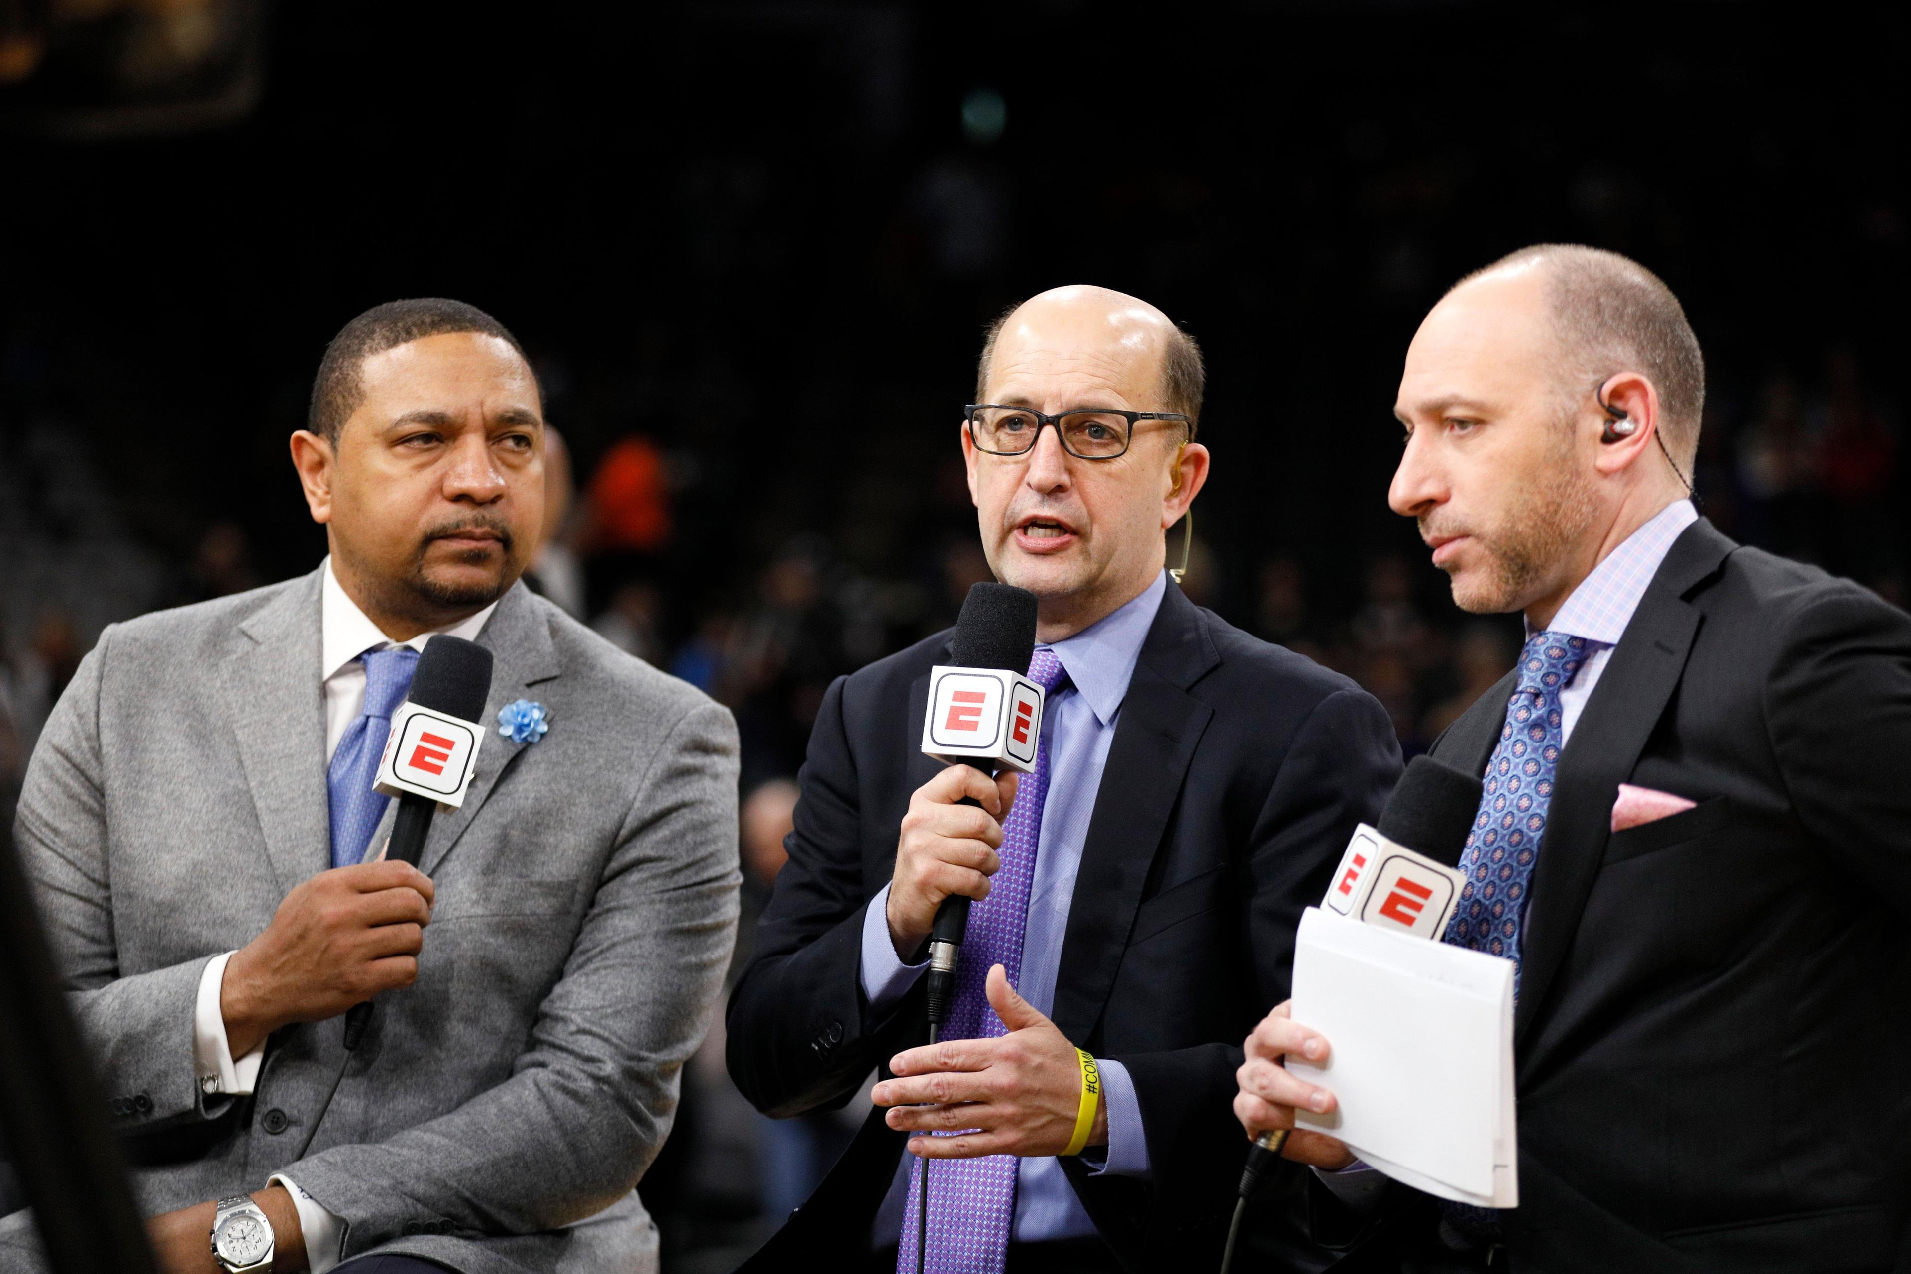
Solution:
<svg viewBox="0 0 1911 1274">
<path fill-rule="evenodd" d="M 1454 285 L 1514 265 L 1544 269 L 1554 334 L 1586 384 L 1613 372 L 1643 372 L 1659 390 L 1661 432 L 1678 468 L 1691 472 L 1705 416 L 1705 355 L 1699 338 L 1659 275 L 1628 256 L 1571 243 L 1540 243 L 1502 256 Z"/>
</svg>

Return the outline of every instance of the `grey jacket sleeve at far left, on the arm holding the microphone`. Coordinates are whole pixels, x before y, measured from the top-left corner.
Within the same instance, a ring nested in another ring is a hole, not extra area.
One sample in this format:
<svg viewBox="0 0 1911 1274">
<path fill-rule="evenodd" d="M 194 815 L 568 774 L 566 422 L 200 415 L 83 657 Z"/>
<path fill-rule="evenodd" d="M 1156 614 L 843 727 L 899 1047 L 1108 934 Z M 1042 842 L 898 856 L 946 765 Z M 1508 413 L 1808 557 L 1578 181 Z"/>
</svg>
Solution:
<svg viewBox="0 0 1911 1274">
<path fill-rule="evenodd" d="M 233 1098 L 203 1094 L 193 1073 L 193 1005 L 212 957 L 126 978 L 118 972 L 99 749 L 99 686 L 111 648 L 107 628 L 54 707 L 13 827 L 113 1121 L 120 1131 L 147 1133 L 216 1117 Z"/>
</svg>

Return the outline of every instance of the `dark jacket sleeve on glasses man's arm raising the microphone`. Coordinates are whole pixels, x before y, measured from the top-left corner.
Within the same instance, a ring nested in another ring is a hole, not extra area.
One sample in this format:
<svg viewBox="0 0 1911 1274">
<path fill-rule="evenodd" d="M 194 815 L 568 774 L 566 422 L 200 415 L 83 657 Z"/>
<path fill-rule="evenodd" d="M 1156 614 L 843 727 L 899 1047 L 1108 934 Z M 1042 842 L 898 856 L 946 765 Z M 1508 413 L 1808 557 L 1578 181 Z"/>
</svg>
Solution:
<svg viewBox="0 0 1911 1274">
<path fill-rule="evenodd" d="M 789 861 L 776 877 L 749 966 L 730 993 L 730 1079 L 770 1115 L 835 1108 L 906 1043 L 921 989 L 877 1018 L 862 995 L 864 888 L 848 678 L 824 695 L 797 775 Z"/>
</svg>

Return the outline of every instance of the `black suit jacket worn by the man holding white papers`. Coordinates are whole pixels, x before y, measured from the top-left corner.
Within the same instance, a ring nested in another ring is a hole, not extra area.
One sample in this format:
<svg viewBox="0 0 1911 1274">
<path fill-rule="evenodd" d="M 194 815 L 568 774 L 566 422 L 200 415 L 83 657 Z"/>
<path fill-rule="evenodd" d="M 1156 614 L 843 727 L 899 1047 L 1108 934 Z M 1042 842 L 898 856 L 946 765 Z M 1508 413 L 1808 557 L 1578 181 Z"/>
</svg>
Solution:
<svg viewBox="0 0 1911 1274">
<path fill-rule="evenodd" d="M 1512 690 L 1433 754 L 1483 772 Z M 1621 783 L 1697 806 L 1613 833 Z M 1911 617 L 1691 525 L 1559 758 L 1531 900 L 1512 1270 L 1896 1268 Z M 1452 1268 L 1391 1190 L 1347 1268 Z"/>
</svg>

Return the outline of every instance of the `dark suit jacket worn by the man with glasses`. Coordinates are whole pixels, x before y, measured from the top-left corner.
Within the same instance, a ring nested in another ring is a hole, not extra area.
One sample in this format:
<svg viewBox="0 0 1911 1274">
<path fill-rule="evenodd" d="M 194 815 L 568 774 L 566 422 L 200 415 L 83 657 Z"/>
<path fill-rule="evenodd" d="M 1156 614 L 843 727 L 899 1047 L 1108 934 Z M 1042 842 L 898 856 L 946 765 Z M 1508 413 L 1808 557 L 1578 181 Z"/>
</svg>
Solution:
<svg viewBox="0 0 1911 1274">
<path fill-rule="evenodd" d="M 730 997 L 730 1075 L 759 1110 L 841 1106 L 927 1039 L 923 986 L 875 1016 L 860 953 L 910 795 L 940 768 L 919 741 L 929 669 L 946 661 L 948 634 L 934 636 L 824 699 L 789 863 Z M 1131 1268 L 1219 1257 L 1246 1150 L 1231 1108 L 1240 1041 L 1286 999 L 1301 909 L 1399 770 L 1366 691 L 1166 590 L 1095 795 L 1051 1014 L 1135 1081 L 1152 1180 L 1064 1159 Z M 871 1115 L 759 1263 L 868 1253 L 904 1140 Z"/>
</svg>

